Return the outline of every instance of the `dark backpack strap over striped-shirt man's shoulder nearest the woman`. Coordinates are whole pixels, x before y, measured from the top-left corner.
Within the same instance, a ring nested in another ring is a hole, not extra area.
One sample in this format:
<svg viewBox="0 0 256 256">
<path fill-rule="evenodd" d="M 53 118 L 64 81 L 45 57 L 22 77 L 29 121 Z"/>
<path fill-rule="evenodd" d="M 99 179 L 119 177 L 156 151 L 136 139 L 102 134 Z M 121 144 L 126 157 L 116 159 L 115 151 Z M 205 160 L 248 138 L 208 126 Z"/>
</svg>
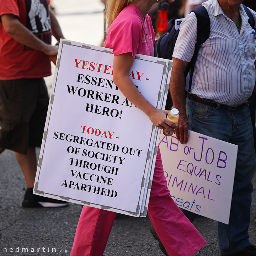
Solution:
<svg viewBox="0 0 256 256">
<path fill-rule="evenodd" d="M 189 70 L 191 70 L 188 92 L 191 91 L 194 65 L 196 63 L 198 51 L 201 47 L 201 44 L 204 43 L 210 35 L 210 18 L 206 8 L 202 5 L 198 5 L 191 12 L 194 12 L 197 17 L 197 42 L 191 62 L 187 65 L 185 70 L 185 78 L 187 77 Z"/>
</svg>

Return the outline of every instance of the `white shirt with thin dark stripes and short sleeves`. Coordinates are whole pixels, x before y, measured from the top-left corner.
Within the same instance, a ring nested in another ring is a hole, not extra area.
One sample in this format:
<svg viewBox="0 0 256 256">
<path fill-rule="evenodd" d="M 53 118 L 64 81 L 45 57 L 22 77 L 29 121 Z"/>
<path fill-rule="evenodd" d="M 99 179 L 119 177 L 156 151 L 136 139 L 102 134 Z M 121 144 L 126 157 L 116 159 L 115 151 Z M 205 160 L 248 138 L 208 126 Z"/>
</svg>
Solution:
<svg viewBox="0 0 256 256">
<path fill-rule="evenodd" d="M 210 17 L 210 36 L 199 49 L 190 93 L 229 106 L 240 105 L 251 96 L 255 85 L 255 30 L 242 5 L 240 33 L 217 0 L 202 5 Z M 256 13 L 251 12 L 256 20 Z M 173 57 L 190 62 L 196 39 L 197 19 L 192 12 L 181 23 Z M 186 90 L 188 84 L 189 75 Z"/>
</svg>

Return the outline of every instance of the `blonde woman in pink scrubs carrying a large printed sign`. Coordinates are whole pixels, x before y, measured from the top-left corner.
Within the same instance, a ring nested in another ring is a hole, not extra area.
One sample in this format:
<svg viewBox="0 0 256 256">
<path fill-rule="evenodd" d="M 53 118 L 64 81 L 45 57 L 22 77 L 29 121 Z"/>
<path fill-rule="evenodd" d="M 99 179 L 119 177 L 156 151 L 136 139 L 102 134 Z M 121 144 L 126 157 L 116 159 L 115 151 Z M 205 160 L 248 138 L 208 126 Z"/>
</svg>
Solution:
<svg viewBox="0 0 256 256">
<path fill-rule="evenodd" d="M 155 34 L 147 12 L 158 0 L 108 0 L 105 47 L 113 49 L 113 81 L 135 106 L 155 124 L 174 130 L 168 111 L 152 106 L 129 78 L 136 53 L 154 56 Z M 136 124 L 134 124 L 136 126 Z M 192 256 L 206 240 L 170 197 L 160 150 L 156 157 L 148 214 L 170 256 Z M 84 206 L 76 229 L 71 256 L 102 256 L 116 213 Z"/>
</svg>

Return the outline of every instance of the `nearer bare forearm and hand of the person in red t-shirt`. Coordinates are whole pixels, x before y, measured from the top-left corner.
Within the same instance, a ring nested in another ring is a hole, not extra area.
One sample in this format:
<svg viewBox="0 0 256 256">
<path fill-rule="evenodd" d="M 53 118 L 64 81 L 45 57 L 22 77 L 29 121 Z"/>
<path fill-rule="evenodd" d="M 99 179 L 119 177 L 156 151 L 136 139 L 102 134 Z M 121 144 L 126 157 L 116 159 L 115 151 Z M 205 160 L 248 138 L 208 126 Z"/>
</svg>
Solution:
<svg viewBox="0 0 256 256">
<path fill-rule="evenodd" d="M 5 32 L 17 42 L 35 50 L 39 50 L 47 55 L 57 55 L 57 46 L 51 46 L 37 38 L 30 30 L 20 23 L 17 16 L 3 14 L 0 18 Z"/>
</svg>

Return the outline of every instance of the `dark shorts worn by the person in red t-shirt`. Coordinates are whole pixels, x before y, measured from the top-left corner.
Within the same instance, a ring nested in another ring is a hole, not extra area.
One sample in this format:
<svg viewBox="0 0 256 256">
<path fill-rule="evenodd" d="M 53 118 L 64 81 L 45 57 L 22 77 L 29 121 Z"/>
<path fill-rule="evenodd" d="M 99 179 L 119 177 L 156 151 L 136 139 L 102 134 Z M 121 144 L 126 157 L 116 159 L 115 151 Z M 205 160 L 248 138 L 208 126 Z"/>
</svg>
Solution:
<svg viewBox="0 0 256 256">
<path fill-rule="evenodd" d="M 42 78 L 0 80 L 0 147 L 26 154 L 41 146 L 48 104 Z"/>
</svg>

